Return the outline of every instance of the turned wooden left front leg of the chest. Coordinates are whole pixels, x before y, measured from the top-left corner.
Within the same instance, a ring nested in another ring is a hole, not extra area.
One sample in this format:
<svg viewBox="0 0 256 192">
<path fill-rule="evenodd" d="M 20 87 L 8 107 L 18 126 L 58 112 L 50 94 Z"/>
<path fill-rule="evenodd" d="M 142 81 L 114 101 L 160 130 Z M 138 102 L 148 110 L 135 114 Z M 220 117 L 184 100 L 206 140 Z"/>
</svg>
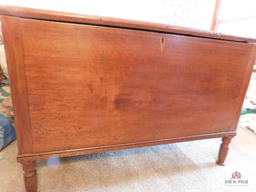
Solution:
<svg viewBox="0 0 256 192">
<path fill-rule="evenodd" d="M 26 192 L 36 192 L 37 190 L 37 177 L 35 169 L 35 161 L 21 162 L 22 170 L 24 171 L 24 184 Z"/>
</svg>

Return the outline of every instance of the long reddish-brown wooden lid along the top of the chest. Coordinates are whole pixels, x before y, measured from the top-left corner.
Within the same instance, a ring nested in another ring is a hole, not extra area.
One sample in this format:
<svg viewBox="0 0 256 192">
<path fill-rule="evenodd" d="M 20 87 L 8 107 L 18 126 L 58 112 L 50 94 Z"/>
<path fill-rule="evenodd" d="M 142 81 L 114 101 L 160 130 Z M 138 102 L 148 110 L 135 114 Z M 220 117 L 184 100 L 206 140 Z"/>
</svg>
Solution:
<svg viewBox="0 0 256 192">
<path fill-rule="evenodd" d="M 40 19 L 40 20 L 77 22 L 77 23 L 86 23 L 86 24 L 93 24 L 93 25 L 134 28 L 138 30 L 144 29 L 144 30 L 158 31 L 159 33 L 161 32 L 162 33 L 179 33 L 183 35 L 256 43 L 256 39 L 237 37 L 237 36 L 219 33 L 215 31 L 207 31 L 202 29 L 193 29 L 193 28 L 182 27 L 182 26 L 171 26 L 166 24 L 142 22 L 142 21 L 135 21 L 135 20 L 99 17 L 99 16 L 84 15 L 84 14 L 77 14 L 77 13 L 65 13 L 65 12 L 57 12 L 57 11 L 49 11 L 49 10 L 40 10 L 40 9 L 33 9 L 33 8 L 26 8 L 26 7 L 0 5 L 0 14 L 34 18 L 34 19 Z"/>
</svg>

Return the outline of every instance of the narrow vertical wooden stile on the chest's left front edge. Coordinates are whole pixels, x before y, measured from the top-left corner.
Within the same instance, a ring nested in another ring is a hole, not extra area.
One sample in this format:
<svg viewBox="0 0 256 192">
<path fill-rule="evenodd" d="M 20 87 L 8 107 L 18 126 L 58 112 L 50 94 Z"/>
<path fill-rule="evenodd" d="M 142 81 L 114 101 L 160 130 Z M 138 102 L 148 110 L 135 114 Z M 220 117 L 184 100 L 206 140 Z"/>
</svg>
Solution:
<svg viewBox="0 0 256 192">
<path fill-rule="evenodd" d="M 19 154 L 31 153 L 33 149 L 20 35 L 20 18 L 1 15 L 0 19 L 14 106 L 13 114 L 15 116 L 18 152 Z"/>
</svg>

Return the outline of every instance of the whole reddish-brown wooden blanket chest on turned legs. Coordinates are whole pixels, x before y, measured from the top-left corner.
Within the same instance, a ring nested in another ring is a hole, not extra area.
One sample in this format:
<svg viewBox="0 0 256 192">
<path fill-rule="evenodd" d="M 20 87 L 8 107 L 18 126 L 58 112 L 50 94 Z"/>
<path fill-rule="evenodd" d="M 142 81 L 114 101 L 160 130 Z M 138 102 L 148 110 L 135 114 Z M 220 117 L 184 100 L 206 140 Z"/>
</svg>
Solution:
<svg viewBox="0 0 256 192">
<path fill-rule="evenodd" d="M 256 40 L 21 7 L 0 14 L 27 191 L 34 161 L 53 155 L 221 137 L 223 164 Z"/>
</svg>

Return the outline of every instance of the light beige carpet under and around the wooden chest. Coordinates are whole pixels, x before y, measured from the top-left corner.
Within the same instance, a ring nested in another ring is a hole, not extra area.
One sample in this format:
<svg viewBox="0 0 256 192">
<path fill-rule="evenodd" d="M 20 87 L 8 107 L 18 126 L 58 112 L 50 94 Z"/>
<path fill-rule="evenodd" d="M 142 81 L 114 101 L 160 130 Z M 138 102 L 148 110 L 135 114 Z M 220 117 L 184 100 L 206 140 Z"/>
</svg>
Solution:
<svg viewBox="0 0 256 192">
<path fill-rule="evenodd" d="M 226 166 L 215 163 L 220 138 L 41 160 L 38 192 L 256 192 L 256 134 L 237 131 Z M 0 192 L 25 191 L 16 153 L 16 141 L 0 152 Z M 248 186 L 225 186 L 236 171 Z"/>
</svg>

